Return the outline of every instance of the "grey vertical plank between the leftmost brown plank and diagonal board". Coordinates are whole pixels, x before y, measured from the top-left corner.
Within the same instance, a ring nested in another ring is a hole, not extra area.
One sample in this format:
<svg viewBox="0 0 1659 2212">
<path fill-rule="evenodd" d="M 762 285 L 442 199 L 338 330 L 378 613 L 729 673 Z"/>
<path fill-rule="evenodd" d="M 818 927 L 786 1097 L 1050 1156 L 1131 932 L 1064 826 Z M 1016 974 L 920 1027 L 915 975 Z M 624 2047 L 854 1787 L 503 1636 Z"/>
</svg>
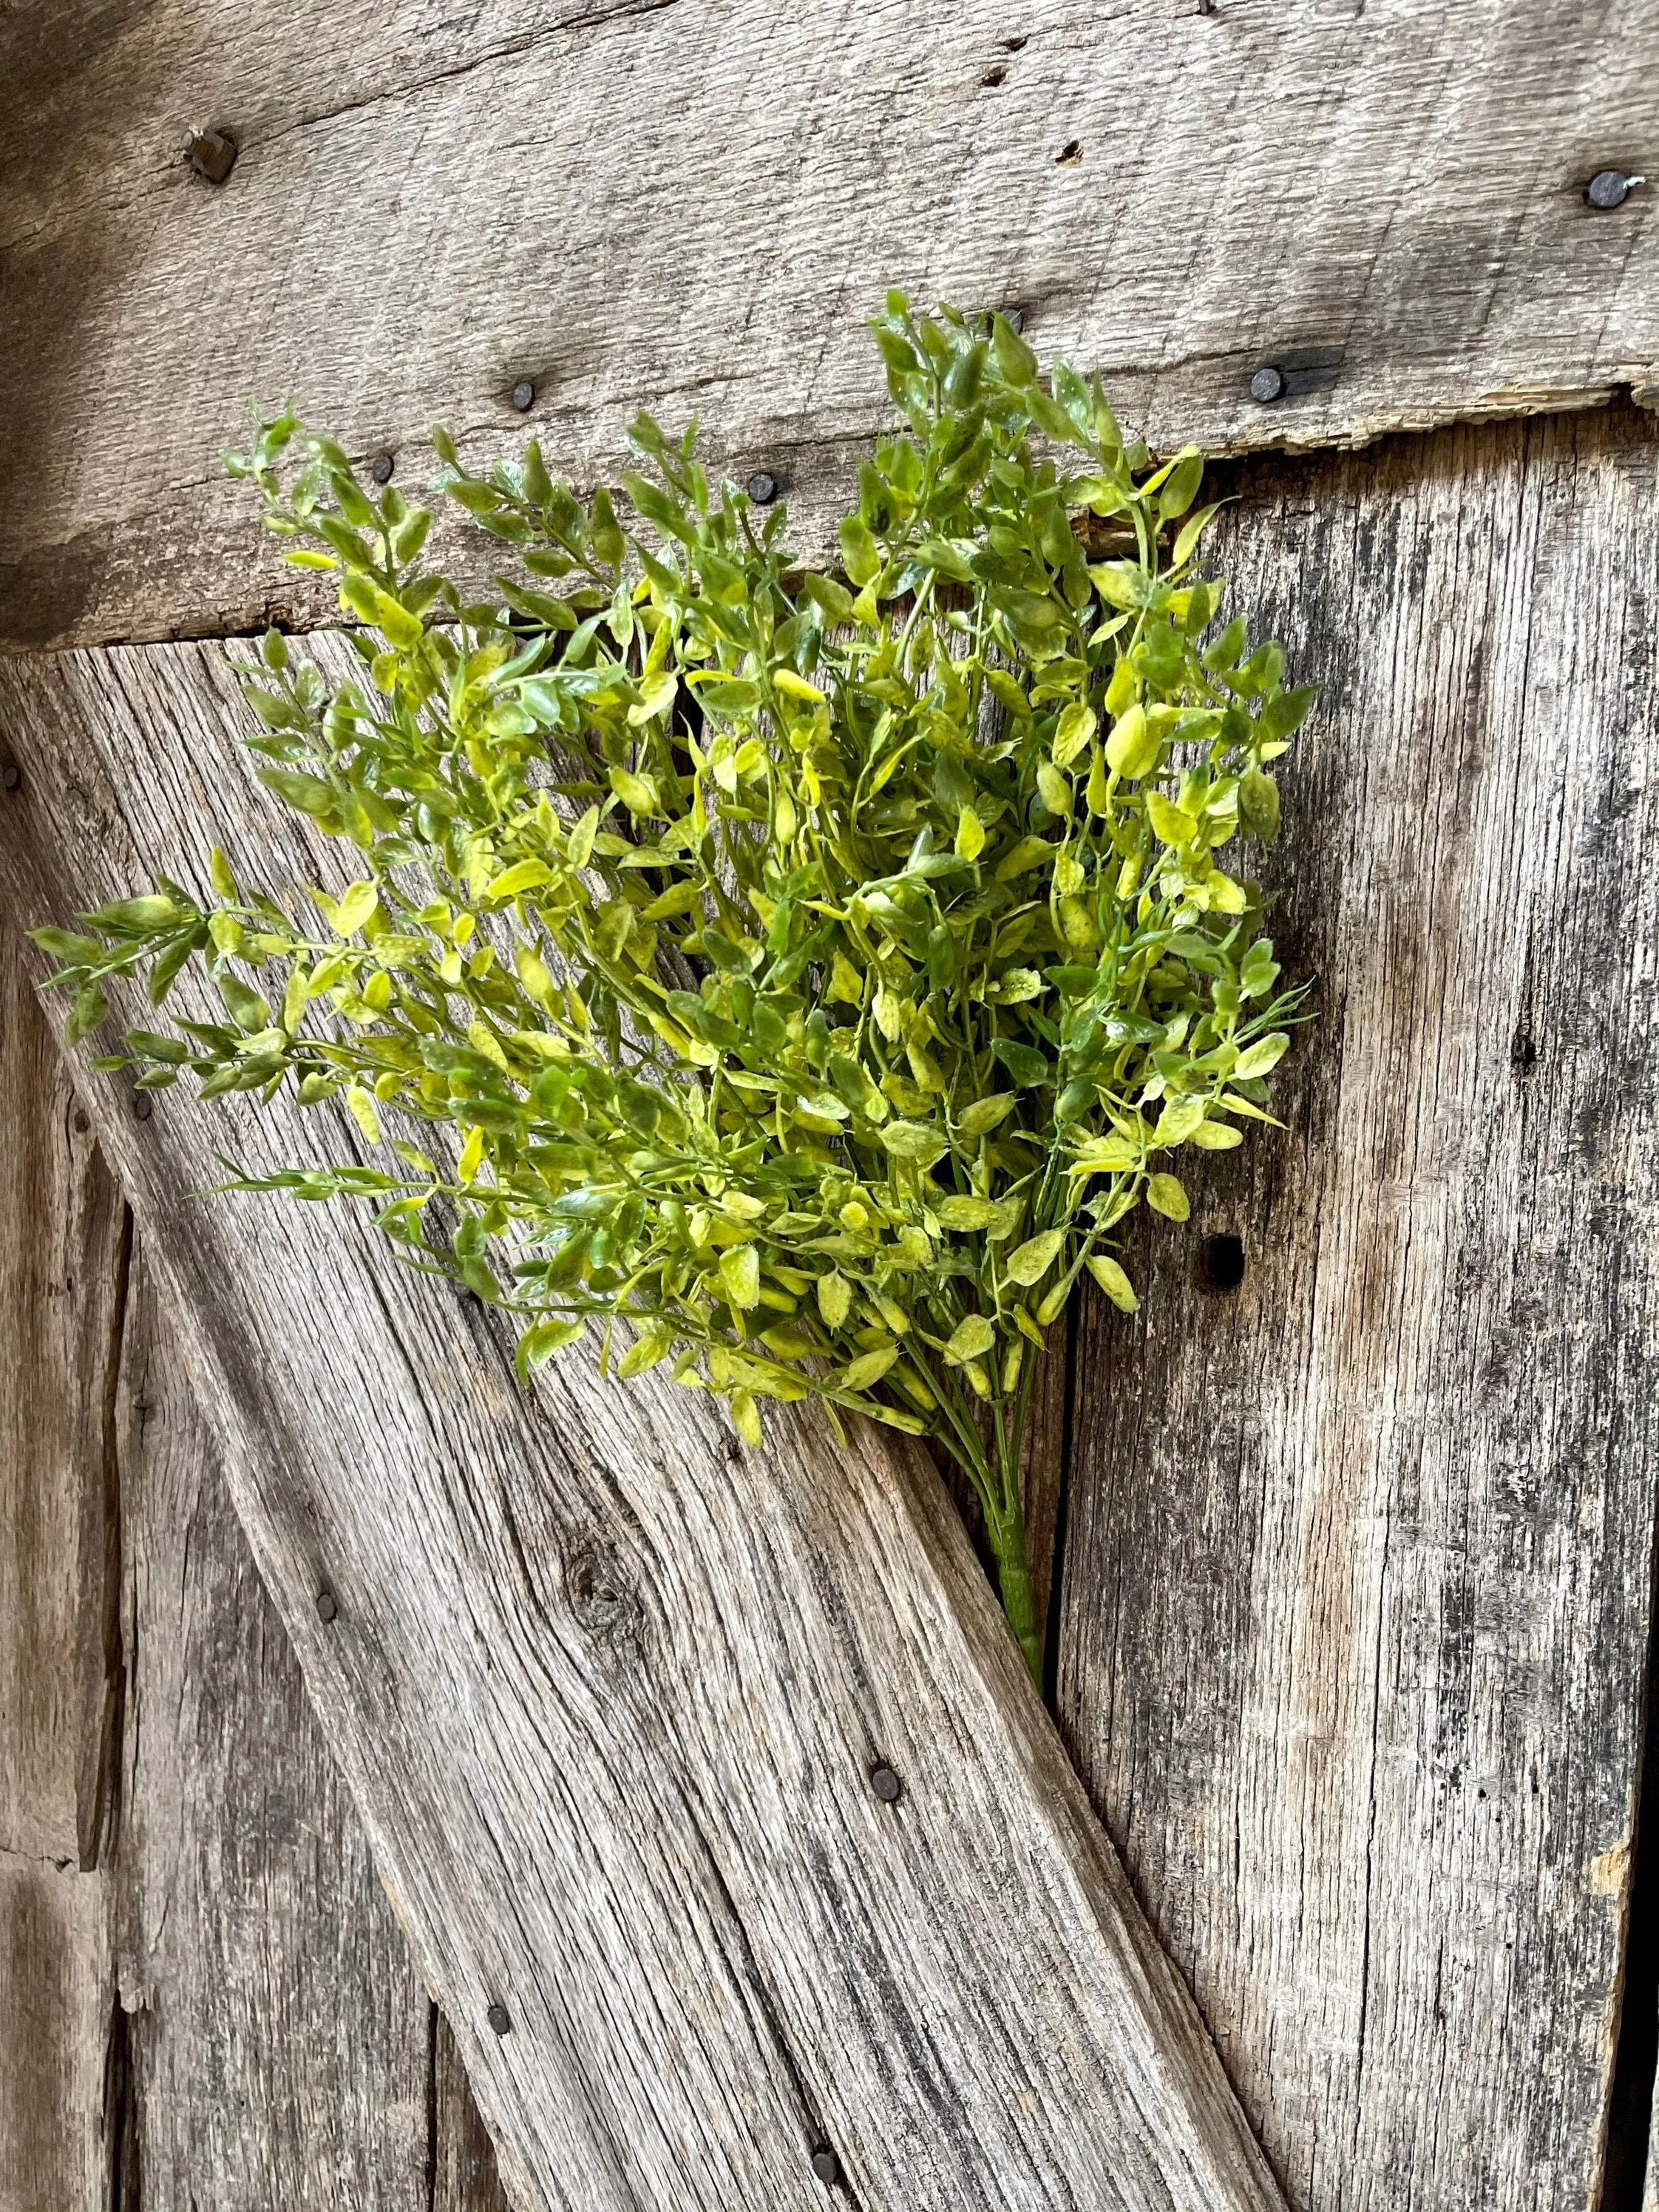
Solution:
<svg viewBox="0 0 1659 2212">
<path fill-rule="evenodd" d="M 429 1997 L 142 1256 L 122 1429 L 115 1887 L 146 2201 L 427 2212 Z"/>
</svg>

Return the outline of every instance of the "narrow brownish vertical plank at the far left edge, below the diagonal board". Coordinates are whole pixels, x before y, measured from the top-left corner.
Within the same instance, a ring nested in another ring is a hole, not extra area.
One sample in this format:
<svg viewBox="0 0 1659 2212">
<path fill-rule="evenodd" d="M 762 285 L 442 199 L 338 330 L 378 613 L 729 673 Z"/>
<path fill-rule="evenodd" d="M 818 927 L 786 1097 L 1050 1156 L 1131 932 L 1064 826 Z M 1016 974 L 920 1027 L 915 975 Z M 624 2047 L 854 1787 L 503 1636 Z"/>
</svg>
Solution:
<svg viewBox="0 0 1659 2212">
<path fill-rule="evenodd" d="M 0 958 L 0 2212 L 106 2212 L 122 1203 Z"/>
</svg>

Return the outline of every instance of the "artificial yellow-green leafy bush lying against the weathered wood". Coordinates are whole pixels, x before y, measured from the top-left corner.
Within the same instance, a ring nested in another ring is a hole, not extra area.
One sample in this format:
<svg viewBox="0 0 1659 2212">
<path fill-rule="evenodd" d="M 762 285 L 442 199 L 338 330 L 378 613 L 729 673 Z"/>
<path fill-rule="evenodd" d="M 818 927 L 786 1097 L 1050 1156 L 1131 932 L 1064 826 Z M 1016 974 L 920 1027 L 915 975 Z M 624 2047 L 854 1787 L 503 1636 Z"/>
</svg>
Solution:
<svg viewBox="0 0 1659 2212">
<path fill-rule="evenodd" d="M 1186 1219 L 1177 1155 L 1270 1119 L 1294 993 L 1221 854 L 1276 834 L 1310 692 L 1241 622 L 1203 644 L 1197 451 L 1150 467 L 1000 316 L 894 294 L 874 332 L 907 431 L 860 469 L 845 582 L 641 416 L 639 531 L 535 445 L 473 478 L 438 434 L 442 493 L 520 555 L 465 604 L 427 509 L 325 438 L 285 476 L 299 425 L 261 420 L 232 467 L 338 573 L 363 668 L 265 637 L 259 774 L 361 880 L 310 918 L 215 854 L 210 902 L 164 880 L 38 940 L 73 1035 L 111 975 L 159 1006 L 206 962 L 223 1020 L 100 1064 L 343 1097 L 383 1166 L 241 1188 L 376 1199 L 524 1316 L 524 1365 L 597 1323 L 750 1444 L 807 1396 L 936 1438 L 1037 1672 L 1035 1365 L 1084 1270 L 1135 1310 L 1113 1232 Z"/>
</svg>

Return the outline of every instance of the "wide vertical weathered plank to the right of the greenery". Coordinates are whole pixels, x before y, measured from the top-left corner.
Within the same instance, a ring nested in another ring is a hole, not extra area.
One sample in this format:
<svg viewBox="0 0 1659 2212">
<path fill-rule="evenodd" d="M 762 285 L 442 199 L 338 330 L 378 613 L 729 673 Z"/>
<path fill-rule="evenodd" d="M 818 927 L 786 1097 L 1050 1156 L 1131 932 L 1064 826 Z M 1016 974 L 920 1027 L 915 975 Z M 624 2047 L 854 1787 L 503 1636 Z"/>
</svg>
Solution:
<svg viewBox="0 0 1659 2212">
<path fill-rule="evenodd" d="M 1659 471 L 1635 414 L 1250 465 L 1290 1128 L 1086 1325 L 1062 1723 L 1296 2205 L 1582 2212 L 1652 1555 Z"/>
</svg>

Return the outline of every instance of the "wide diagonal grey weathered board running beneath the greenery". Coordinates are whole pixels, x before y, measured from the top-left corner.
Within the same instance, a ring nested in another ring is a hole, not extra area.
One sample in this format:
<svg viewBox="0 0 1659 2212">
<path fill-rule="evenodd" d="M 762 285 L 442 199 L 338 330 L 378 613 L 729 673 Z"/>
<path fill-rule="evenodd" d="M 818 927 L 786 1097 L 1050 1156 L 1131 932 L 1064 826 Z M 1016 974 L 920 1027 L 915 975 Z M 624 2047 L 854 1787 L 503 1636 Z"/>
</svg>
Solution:
<svg viewBox="0 0 1659 2212">
<path fill-rule="evenodd" d="M 239 717 L 212 648 L 0 668 L 13 902 L 210 825 L 310 876 Z M 367 1225 L 184 1197 L 343 1124 L 86 1102 L 515 2199 L 787 2212 L 827 2137 L 867 2212 L 1276 2203 L 918 1455 L 794 1409 L 732 1458 L 575 1363 L 526 1402 Z"/>
</svg>

